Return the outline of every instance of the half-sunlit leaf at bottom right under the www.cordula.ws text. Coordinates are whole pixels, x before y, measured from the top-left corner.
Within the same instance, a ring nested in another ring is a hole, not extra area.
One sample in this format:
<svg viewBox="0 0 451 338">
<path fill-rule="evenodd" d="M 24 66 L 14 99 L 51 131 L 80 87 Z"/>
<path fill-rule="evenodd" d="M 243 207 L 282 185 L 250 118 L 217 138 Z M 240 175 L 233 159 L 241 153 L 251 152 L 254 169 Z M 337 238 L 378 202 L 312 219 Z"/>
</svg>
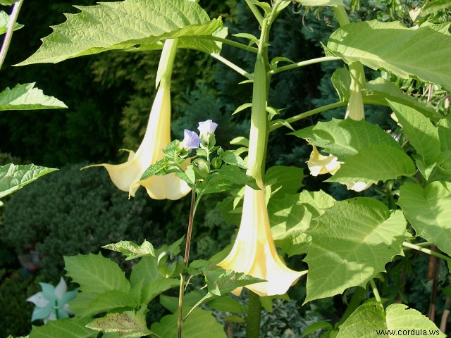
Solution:
<svg viewBox="0 0 451 338">
<path fill-rule="evenodd" d="M 446 334 L 419 311 L 404 304 L 391 304 L 384 311 L 380 304 L 370 301 L 340 325 L 337 338 L 430 336 L 445 338 Z"/>
</svg>

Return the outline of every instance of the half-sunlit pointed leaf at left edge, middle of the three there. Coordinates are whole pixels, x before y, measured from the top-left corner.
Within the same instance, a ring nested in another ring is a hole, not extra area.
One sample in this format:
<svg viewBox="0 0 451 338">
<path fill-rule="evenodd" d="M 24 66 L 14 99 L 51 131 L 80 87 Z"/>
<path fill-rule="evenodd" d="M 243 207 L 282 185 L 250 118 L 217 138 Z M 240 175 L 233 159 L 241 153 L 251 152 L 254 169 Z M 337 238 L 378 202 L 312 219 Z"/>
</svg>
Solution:
<svg viewBox="0 0 451 338">
<path fill-rule="evenodd" d="M 17 84 L 13 89 L 6 87 L 0 93 L 0 111 L 68 108 L 53 96 L 44 95 L 41 89 L 35 88 L 35 83 Z"/>
</svg>

